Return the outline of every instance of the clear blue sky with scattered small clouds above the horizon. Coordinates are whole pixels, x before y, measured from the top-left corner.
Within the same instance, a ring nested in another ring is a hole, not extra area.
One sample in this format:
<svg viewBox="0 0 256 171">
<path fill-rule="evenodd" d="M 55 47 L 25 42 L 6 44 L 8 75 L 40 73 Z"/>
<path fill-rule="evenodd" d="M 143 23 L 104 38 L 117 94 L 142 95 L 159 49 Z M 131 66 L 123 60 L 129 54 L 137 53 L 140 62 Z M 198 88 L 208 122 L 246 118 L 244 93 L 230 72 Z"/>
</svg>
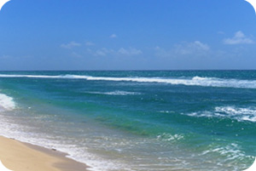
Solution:
<svg viewBox="0 0 256 171">
<path fill-rule="evenodd" d="M 0 71 L 256 69 L 245 0 L 11 0 Z"/>
</svg>

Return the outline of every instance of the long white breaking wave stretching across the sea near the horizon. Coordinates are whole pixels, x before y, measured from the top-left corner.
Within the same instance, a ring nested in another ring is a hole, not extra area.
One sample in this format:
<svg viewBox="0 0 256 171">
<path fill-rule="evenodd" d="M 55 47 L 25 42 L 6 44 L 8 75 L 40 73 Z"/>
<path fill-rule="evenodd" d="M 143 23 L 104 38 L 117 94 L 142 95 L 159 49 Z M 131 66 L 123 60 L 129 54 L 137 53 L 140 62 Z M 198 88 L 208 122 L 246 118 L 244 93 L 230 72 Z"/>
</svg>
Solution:
<svg viewBox="0 0 256 171">
<path fill-rule="evenodd" d="M 85 79 L 91 81 L 137 82 L 137 83 L 170 83 L 173 85 L 203 86 L 218 88 L 256 88 L 256 80 L 224 79 L 216 77 L 166 78 L 166 77 L 91 77 L 79 75 L 4 75 L 0 77 L 28 77 L 51 79 Z"/>
</svg>

